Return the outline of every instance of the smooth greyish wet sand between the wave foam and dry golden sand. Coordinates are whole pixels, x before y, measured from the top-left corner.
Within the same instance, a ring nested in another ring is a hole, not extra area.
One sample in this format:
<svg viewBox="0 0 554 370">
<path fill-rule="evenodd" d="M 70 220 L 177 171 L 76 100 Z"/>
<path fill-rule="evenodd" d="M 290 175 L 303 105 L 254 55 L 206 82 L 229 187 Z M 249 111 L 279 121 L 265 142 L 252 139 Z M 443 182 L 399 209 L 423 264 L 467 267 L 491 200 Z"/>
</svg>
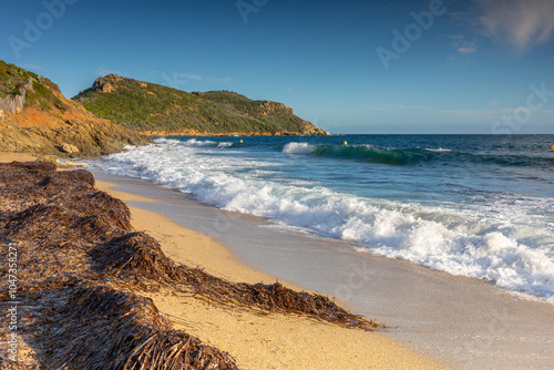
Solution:
<svg viewBox="0 0 554 370">
<path fill-rule="evenodd" d="M 339 240 L 285 230 L 138 179 L 95 176 L 117 184 L 119 192 L 142 196 L 127 198 L 135 208 L 163 214 L 187 233 L 213 238 L 194 243 L 204 245 L 196 256 L 182 254 L 181 244 L 174 241 L 174 250 L 166 254 L 176 260 L 183 258 L 232 280 L 273 282 L 278 278 L 335 296 L 355 312 L 397 327 L 388 330 L 388 338 L 462 369 L 550 369 L 554 361 L 554 305 L 522 299 L 483 280 L 359 253 Z M 133 215 L 138 222 L 136 209 Z M 165 243 L 171 244 L 174 233 L 163 232 L 166 226 L 150 219 L 140 225 L 156 238 L 165 234 Z M 216 241 L 223 246 L 211 250 L 208 246 Z M 217 266 L 219 257 L 223 265 Z M 257 275 L 249 267 L 268 275 Z M 247 270 L 254 274 L 253 280 L 242 275 Z"/>
</svg>

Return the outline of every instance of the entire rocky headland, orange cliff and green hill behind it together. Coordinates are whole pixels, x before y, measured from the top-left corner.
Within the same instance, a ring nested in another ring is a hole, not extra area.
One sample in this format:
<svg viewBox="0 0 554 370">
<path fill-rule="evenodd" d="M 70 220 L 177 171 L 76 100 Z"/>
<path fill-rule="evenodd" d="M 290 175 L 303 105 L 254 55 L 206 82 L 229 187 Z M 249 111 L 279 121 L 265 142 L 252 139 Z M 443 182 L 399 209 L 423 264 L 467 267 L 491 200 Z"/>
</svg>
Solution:
<svg viewBox="0 0 554 370">
<path fill-rule="evenodd" d="M 109 74 L 72 100 L 0 61 L 0 152 L 99 156 L 148 136 L 326 135 L 283 103 L 181 90 Z"/>
</svg>

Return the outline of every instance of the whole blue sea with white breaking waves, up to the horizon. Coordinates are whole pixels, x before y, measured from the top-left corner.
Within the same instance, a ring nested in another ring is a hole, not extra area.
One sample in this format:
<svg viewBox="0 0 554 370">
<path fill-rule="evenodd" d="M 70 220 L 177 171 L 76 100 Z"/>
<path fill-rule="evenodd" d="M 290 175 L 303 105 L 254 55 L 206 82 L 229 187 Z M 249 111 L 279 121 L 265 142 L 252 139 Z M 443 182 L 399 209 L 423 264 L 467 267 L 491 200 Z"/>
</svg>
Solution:
<svg viewBox="0 0 554 370">
<path fill-rule="evenodd" d="M 554 304 L 554 135 L 154 142 L 90 165 Z"/>
</svg>

